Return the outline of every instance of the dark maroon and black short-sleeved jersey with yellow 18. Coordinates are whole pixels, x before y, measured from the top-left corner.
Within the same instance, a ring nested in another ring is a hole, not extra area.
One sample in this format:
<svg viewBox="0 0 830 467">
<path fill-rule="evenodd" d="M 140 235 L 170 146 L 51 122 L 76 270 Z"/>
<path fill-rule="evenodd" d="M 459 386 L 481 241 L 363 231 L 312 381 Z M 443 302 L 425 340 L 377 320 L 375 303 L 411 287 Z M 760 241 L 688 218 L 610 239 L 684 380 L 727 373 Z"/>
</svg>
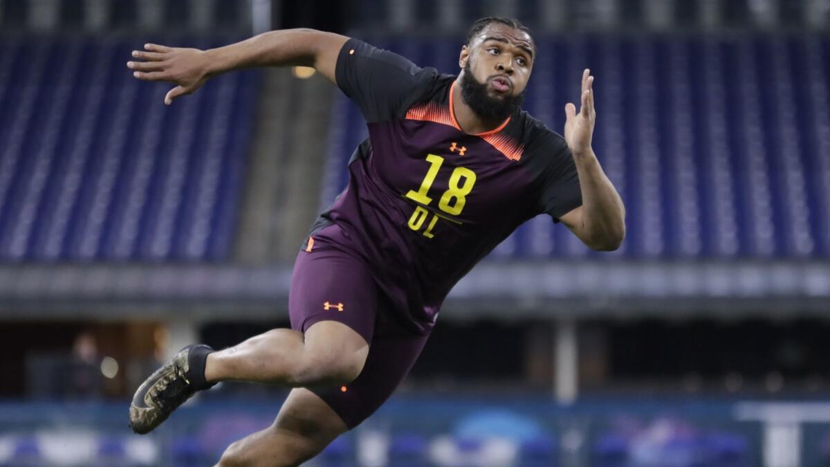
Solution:
<svg viewBox="0 0 830 467">
<path fill-rule="evenodd" d="M 468 135 L 452 110 L 456 76 L 356 39 L 335 76 L 369 138 L 303 248 L 333 243 L 364 258 L 413 330 L 427 332 L 450 289 L 520 224 L 582 204 L 564 138 L 525 111 Z"/>
</svg>

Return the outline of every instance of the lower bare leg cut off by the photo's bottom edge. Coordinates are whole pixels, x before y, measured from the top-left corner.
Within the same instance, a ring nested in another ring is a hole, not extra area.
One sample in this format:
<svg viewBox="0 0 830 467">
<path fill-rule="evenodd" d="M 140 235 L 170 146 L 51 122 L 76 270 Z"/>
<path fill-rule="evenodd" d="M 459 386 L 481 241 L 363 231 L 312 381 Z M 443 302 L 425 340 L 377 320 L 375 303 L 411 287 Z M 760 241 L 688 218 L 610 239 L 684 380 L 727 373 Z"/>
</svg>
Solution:
<svg viewBox="0 0 830 467">
<path fill-rule="evenodd" d="M 230 445 L 217 467 L 284 467 L 320 454 L 348 428 L 313 392 L 291 391 L 274 424 Z"/>
</svg>

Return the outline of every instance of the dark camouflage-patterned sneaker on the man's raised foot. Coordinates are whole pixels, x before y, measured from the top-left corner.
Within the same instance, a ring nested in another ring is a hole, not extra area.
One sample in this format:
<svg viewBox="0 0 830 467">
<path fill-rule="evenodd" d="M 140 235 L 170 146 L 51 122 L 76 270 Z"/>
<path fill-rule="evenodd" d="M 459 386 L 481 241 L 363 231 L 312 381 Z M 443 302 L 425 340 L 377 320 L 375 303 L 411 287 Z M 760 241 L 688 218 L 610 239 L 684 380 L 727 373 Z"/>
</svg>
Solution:
<svg viewBox="0 0 830 467">
<path fill-rule="evenodd" d="M 167 420 L 173 410 L 198 391 L 188 379 L 187 373 L 188 356 L 195 349 L 203 350 L 199 347 L 207 346 L 194 344 L 178 351 L 135 391 L 133 403 L 129 406 L 129 427 L 135 433 L 144 435 L 154 430 Z"/>
</svg>

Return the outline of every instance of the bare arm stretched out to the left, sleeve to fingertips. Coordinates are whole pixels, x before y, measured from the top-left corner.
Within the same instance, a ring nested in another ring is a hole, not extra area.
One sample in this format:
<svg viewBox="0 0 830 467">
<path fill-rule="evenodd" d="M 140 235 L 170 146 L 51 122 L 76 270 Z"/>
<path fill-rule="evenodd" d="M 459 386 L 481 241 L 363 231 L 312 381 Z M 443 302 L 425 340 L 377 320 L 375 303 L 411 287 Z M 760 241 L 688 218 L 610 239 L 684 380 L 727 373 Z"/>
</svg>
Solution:
<svg viewBox="0 0 830 467">
<path fill-rule="evenodd" d="M 206 51 L 144 44 L 133 51 L 143 61 L 128 61 L 133 75 L 144 81 L 168 81 L 176 85 L 164 103 L 196 91 L 211 76 L 251 66 L 313 66 L 334 81 L 337 56 L 349 37 L 314 29 L 264 32 L 242 42 Z"/>
</svg>

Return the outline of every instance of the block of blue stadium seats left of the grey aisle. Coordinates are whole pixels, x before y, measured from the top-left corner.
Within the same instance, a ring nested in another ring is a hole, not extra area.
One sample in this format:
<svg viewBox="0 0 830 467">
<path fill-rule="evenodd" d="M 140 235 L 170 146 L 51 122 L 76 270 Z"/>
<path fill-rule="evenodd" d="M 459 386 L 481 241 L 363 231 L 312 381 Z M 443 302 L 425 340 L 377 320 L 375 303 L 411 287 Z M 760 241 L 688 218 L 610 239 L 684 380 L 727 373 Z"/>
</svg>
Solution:
<svg viewBox="0 0 830 467">
<path fill-rule="evenodd" d="M 221 76 L 167 107 L 170 85 L 125 66 L 142 43 L 0 42 L 0 261 L 227 257 L 257 75 Z"/>
</svg>

